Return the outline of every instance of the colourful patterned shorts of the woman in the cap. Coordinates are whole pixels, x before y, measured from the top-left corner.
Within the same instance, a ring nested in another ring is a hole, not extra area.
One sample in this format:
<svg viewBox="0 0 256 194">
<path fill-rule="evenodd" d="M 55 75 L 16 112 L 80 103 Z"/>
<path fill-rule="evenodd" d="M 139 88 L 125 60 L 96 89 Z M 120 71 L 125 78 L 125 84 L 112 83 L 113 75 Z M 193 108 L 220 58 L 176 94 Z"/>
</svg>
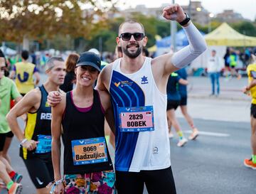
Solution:
<svg viewBox="0 0 256 194">
<path fill-rule="evenodd" d="M 65 194 L 116 194 L 114 171 L 65 175 Z"/>
</svg>

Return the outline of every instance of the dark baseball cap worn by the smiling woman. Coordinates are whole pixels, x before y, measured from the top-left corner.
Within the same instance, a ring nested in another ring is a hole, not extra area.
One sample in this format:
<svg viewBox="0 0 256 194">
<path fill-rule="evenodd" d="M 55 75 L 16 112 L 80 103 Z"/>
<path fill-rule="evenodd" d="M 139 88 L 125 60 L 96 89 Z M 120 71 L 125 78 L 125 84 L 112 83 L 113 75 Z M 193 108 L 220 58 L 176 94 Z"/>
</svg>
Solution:
<svg viewBox="0 0 256 194">
<path fill-rule="evenodd" d="M 76 67 L 82 65 L 92 66 L 92 68 L 95 68 L 96 70 L 100 71 L 101 60 L 99 56 L 95 53 L 85 52 L 80 54 L 80 58 L 78 59 Z"/>
</svg>

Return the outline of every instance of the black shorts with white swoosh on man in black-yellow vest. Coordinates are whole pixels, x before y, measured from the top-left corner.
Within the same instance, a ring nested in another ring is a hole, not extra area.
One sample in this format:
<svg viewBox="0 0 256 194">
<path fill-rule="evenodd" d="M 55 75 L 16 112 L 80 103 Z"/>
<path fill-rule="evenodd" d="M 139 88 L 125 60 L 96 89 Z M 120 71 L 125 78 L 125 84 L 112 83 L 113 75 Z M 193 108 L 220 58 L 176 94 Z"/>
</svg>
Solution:
<svg viewBox="0 0 256 194">
<path fill-rule="evenodd" d="M 40 154 L 38 157 L 23 159 L 23 161 L 36 188 L 45 188 L 54 180 L 53 163 L 49 154 Z"/>
</svg>

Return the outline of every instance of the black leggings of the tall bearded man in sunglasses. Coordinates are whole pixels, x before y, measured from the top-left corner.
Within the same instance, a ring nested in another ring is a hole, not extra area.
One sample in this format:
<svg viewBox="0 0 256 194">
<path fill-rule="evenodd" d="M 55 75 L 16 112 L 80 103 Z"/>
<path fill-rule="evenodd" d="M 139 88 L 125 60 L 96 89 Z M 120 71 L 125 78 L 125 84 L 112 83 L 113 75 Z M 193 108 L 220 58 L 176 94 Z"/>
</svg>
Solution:
<svg viewBox="0 0 256 194">
<path fill-rule="evenodd" d="M 116 171 L 118 194 L 142 194 L 144 183 L 149 194 L 176 194 L 174 176 L 169 168 L 155 171 Z"/>
</svg>

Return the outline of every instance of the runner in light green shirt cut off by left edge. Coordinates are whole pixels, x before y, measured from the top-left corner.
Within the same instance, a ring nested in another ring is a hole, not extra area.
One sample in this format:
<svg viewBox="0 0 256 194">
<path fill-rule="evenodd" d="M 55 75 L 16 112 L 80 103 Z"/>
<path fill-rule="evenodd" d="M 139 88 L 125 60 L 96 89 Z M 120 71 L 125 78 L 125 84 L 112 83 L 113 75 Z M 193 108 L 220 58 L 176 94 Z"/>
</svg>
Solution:
<svg viewBox="0 0 256 194">
<path fill-rule="evenodd" d="M 20 193 L 22 176 L 11 167 L 11 159 L 8 155 L 14 134 L 6 121 L 6 114 L 10 110 L 10 99 L 18 102 L 21 100 L 21 95 L 14 82 L 4 76 L 4 70 L 6 70 L 4 53 L 0 52 L 0 178 L 6 184 L 1 186 L 6 187 L 9 193 Z"/>
</svg>

